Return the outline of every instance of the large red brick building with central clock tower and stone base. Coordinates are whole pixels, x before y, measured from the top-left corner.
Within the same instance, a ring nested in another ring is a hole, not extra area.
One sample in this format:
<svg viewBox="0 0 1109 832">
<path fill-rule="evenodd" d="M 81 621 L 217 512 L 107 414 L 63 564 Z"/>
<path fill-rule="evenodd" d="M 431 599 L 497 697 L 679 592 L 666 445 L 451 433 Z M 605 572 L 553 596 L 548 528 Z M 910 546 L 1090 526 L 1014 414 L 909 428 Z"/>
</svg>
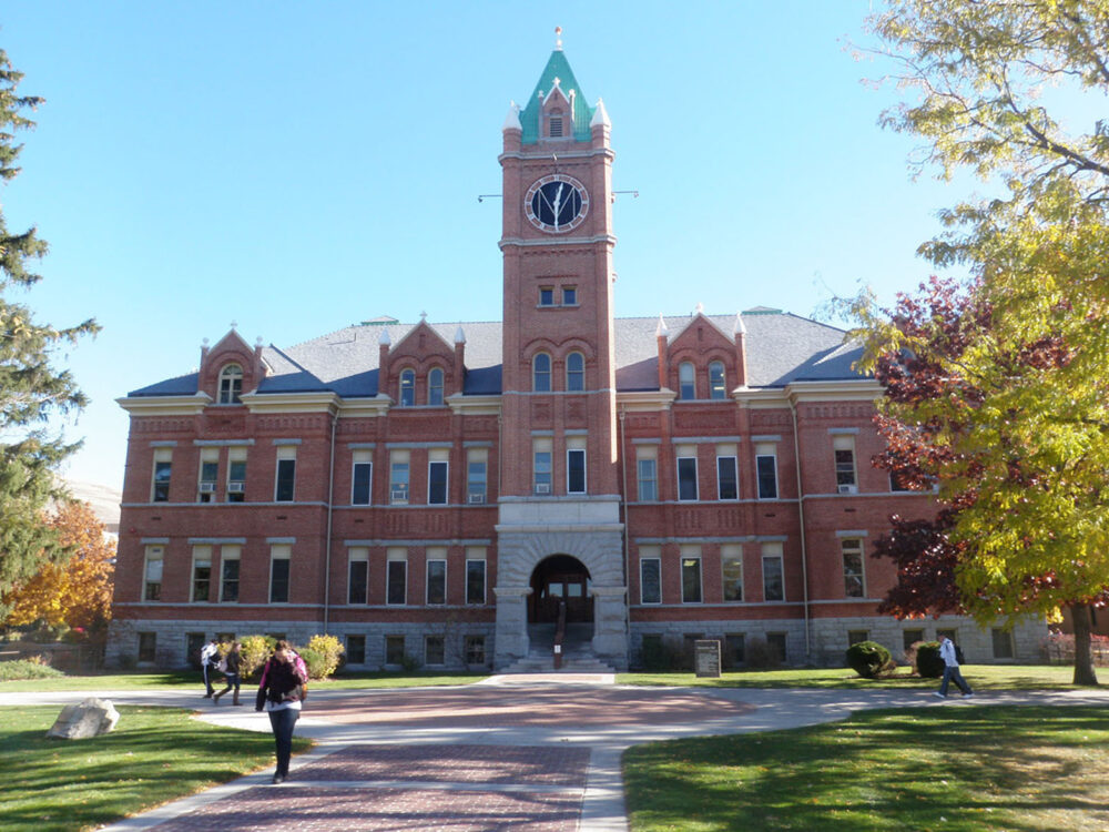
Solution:
<svg viewBox="0 0 1109 832">
<path fill-rule="evenodd" d="M 881 390 L 844 333 L 776 310 L 614 317 L 609 119 L 560 49 L 503 125 L 500 323 L 234 331 L 134 390 L 110 656 L 213 635 L 340 637 L 356 667 L 613 668 L 715 637 L 791 663 L 956 631 L 1035 659 L 1042 626 L 875 612 L 893 511 Z M 734 302 L 723 298 L 722 305 Z"/>
</svg>

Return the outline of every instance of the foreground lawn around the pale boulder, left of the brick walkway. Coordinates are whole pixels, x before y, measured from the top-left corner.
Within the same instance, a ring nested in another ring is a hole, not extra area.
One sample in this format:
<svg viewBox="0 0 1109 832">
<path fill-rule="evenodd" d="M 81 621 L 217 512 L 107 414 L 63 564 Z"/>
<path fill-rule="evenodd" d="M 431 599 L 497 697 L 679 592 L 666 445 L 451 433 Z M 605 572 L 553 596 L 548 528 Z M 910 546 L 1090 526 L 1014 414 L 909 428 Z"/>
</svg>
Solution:
<svg viewBox="0 0 1109 832">
<path fill-rule="evenodd" d="M 173 708 L 121 707 L 112 733 L 47 739 L 57 707 L 0 708 L 0 826 L 91 829 L 274 764 L 271 733 L 217 728 Z M 311 748 L 293 738 L 294 753 Z"/>
</svg>

